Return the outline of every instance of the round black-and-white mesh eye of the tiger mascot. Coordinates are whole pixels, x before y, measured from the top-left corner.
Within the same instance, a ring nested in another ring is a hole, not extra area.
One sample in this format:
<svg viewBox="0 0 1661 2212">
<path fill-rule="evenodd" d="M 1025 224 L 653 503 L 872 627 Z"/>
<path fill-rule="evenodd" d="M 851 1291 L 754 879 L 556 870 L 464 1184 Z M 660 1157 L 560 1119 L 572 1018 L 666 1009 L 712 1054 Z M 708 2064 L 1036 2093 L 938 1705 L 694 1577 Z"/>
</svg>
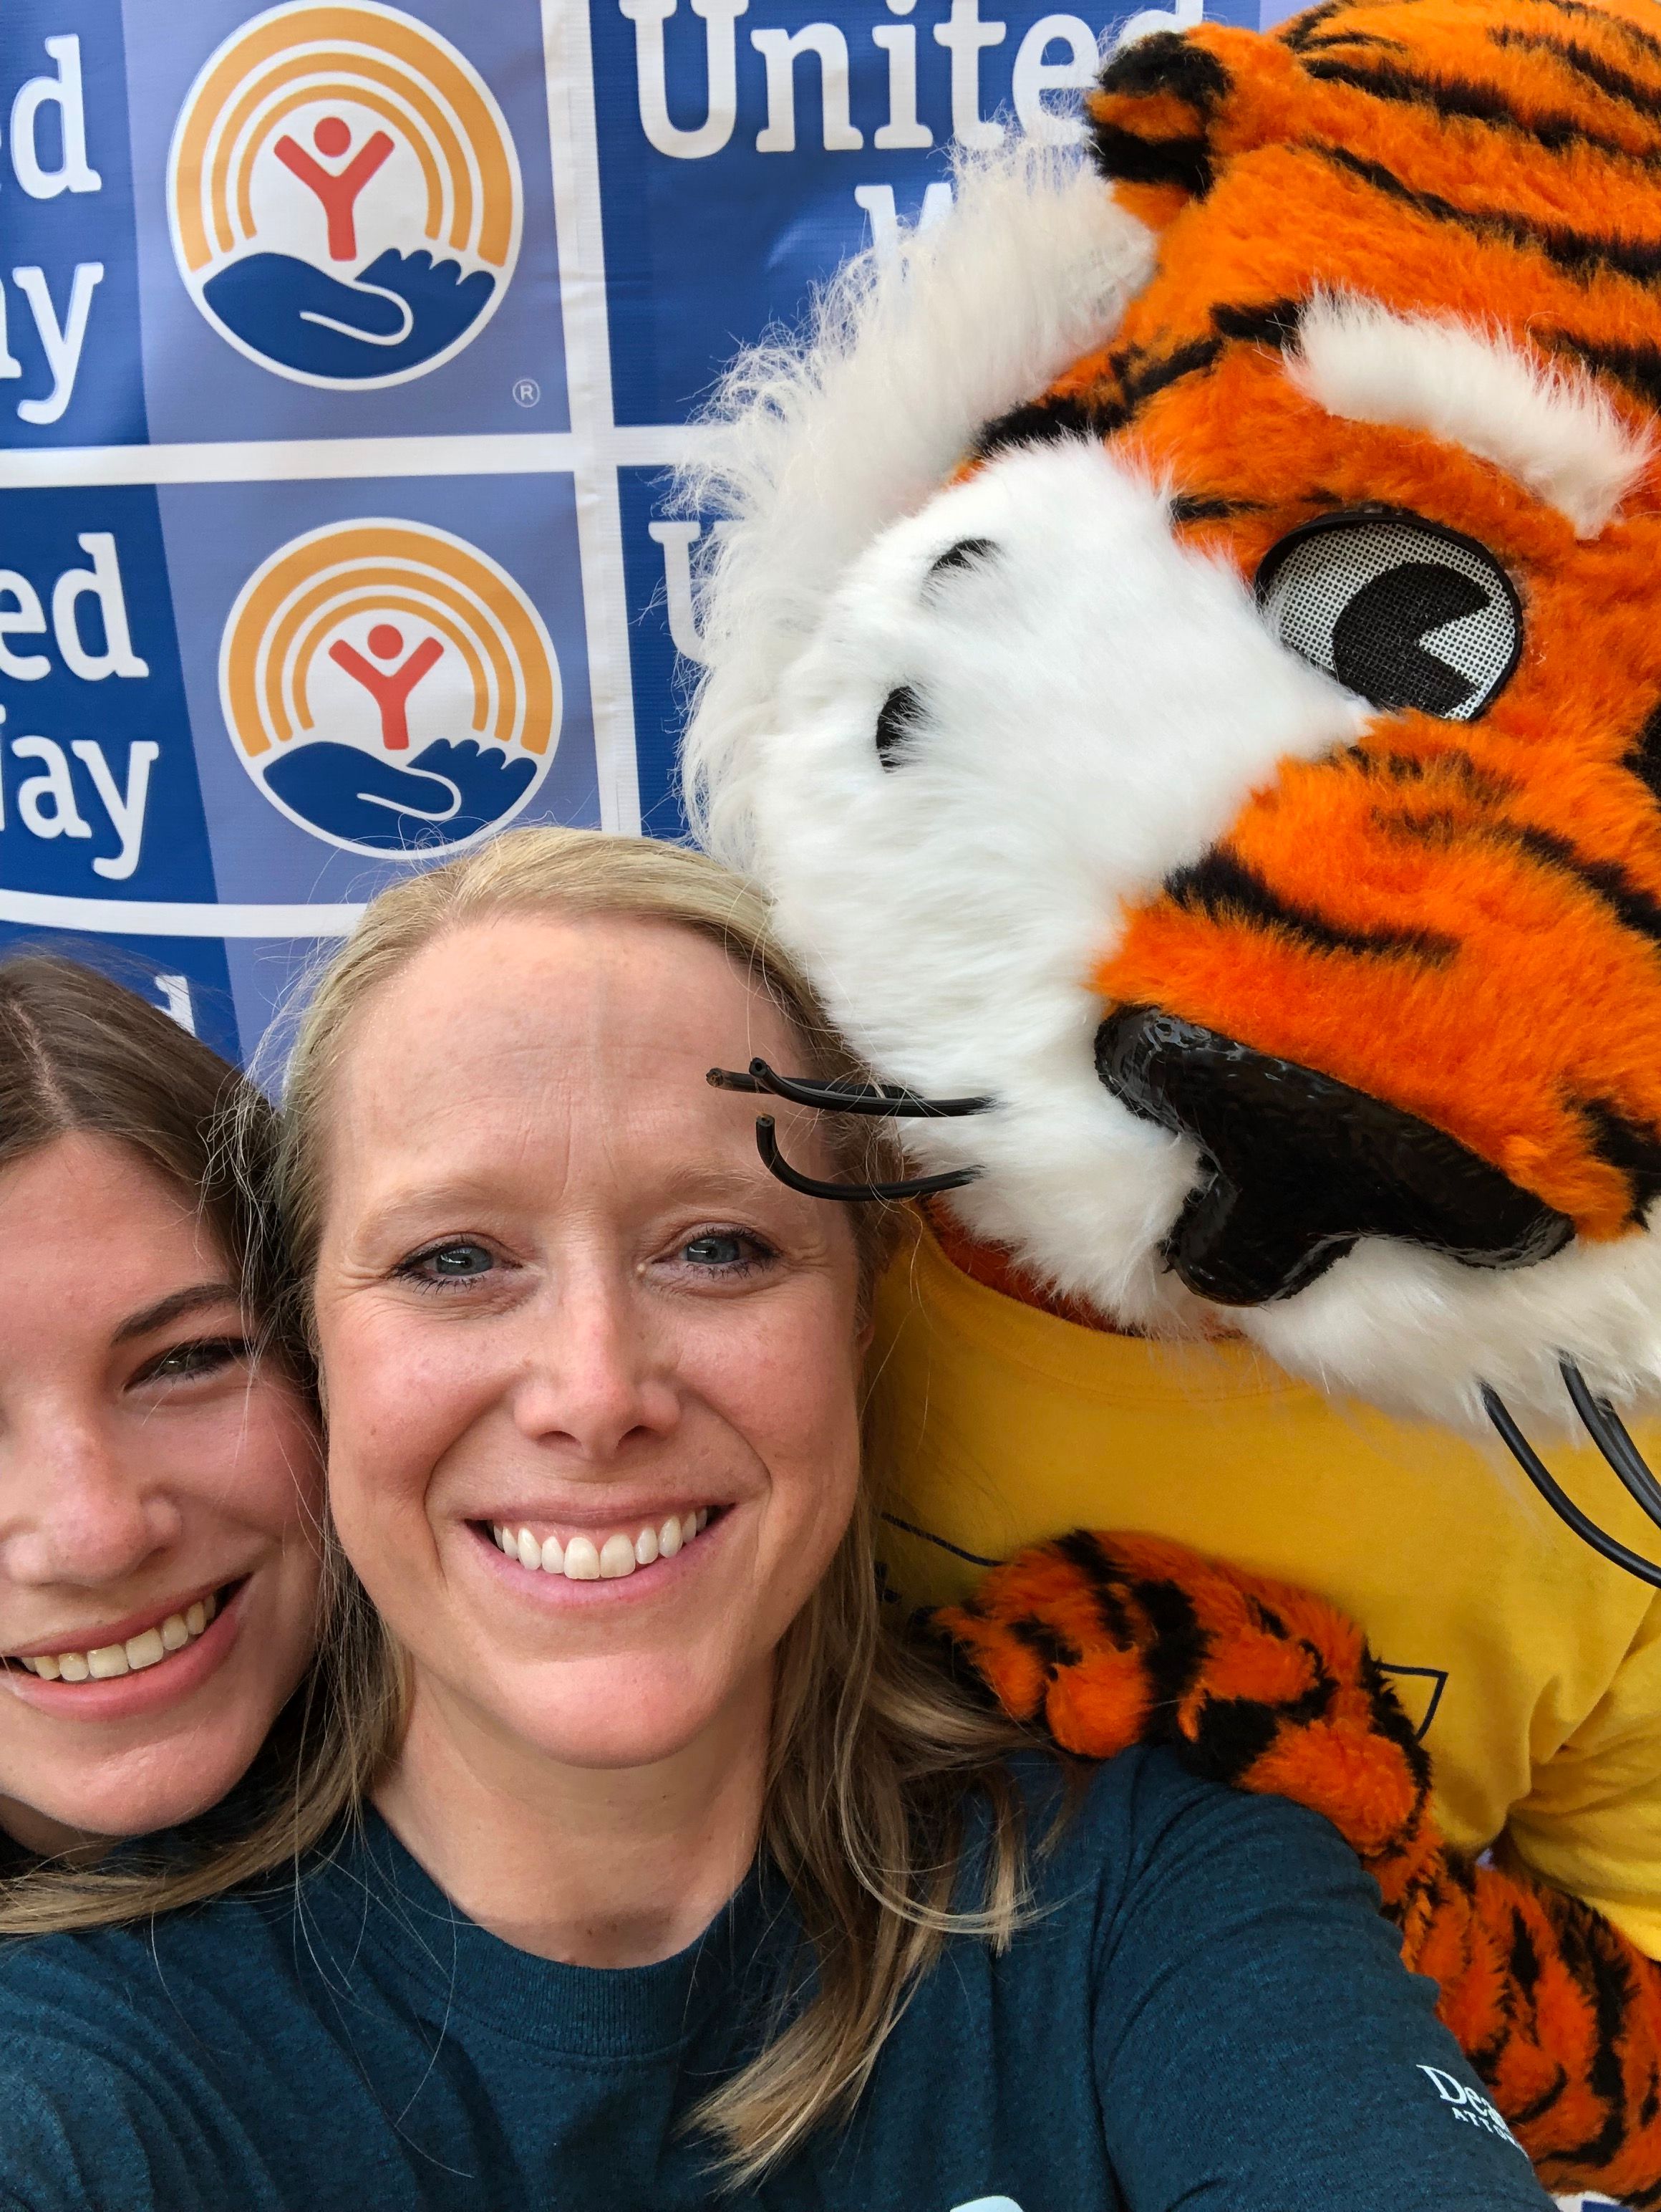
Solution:
<svg viewBox="0 0 1661 2212">
<path fill-rule="evenodd" d="M 1320 515 L 1256 573 L 1292 653 L 1378 708 L 1473 721 L 1522 655 L 1522 602 L 1484 546 L 1400 513 Z"/>
</svg>

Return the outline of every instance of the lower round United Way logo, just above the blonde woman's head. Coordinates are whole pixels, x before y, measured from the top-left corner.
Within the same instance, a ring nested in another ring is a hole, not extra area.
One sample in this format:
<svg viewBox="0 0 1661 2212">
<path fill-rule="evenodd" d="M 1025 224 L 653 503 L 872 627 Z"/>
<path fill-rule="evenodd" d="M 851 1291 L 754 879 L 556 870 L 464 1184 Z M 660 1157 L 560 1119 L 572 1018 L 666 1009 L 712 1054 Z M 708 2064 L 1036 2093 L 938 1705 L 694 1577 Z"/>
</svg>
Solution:
<svg viewBox="0 0 1661 2212">
<path fill-rule="evenodd" d="M 243 584 L 219 646 L 243 768 L 347 852 L 451 852 L 511 821 L 560 739 L 535 606 L 478 546 L 416 522 L 334 522 Z"/>
</svg>

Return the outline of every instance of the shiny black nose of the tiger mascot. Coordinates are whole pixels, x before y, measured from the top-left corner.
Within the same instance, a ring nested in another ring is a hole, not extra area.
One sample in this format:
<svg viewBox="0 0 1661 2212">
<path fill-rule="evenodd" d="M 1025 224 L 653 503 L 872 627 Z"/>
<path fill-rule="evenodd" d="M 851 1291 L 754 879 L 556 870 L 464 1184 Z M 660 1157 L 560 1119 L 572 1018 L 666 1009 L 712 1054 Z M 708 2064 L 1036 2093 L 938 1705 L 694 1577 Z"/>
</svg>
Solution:
<svg viewBox="0 0 1661 2212">
<path fill-rule="evenodd" d="M 1360 1237 L 1531 1267 L 1575 1234 L 1446 1130 L 1159 1006 L 1110 1013 L 1095 1064 L 1130 1113 L 1199 1146 L 1166 1261 L 1219 1305 L 1289 1298 Z"/>
</svg>

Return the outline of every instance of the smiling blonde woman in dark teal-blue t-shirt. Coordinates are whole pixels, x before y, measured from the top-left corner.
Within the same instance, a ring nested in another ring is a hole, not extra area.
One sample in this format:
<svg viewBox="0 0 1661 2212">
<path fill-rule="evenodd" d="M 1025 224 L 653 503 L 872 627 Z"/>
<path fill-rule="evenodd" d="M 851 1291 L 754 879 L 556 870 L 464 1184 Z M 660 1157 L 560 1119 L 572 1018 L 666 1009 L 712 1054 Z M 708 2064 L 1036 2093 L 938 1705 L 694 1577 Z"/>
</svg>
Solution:
<svg viewBox="0 0 1661 2212">
<path fill-rule="evenodd" d="M 299 1865 L 0 1960 L 0 2201 L 1544 2205 L 1316 1816 L 1068 1792 L 880 1617 L 882 1232 L 765 1172 L 703 1082 L 752 1053 L 845 1073 L 692 854 L 518 832 L 369 909 L 283 1170 L 354 1692 Z"/>
</svg>

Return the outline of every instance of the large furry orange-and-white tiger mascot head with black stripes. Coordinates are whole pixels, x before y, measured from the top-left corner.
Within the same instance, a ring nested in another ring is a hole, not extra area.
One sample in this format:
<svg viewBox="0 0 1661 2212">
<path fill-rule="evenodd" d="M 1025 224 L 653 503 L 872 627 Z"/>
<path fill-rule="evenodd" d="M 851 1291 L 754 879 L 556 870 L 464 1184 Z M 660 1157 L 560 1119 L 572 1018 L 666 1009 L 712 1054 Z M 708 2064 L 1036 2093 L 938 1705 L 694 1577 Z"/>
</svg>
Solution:
<svg viewBox="0 0 1661 2212">
<path fill-rule="evenodd" d="M 1661 9 L 1163 33 L 745 361 L 694 818 L 1057 1292 L 1661 1394 Z"/>
</svg>

